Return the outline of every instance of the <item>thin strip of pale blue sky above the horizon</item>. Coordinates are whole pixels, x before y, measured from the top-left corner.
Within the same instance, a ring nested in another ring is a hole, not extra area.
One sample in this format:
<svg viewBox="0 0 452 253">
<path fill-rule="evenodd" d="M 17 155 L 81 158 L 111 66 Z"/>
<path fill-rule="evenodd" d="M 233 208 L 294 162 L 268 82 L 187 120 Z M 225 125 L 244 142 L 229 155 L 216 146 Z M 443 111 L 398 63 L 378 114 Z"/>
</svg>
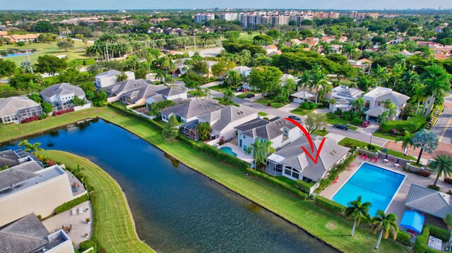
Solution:
<svg viewBox="0 0 452 253">
<path fill-rule="evenodd" d="M 0 10 L 118 10 L 162 8 L 406 9 L 452 8 L 451 0 L 0 0 Z"/>
</svg>

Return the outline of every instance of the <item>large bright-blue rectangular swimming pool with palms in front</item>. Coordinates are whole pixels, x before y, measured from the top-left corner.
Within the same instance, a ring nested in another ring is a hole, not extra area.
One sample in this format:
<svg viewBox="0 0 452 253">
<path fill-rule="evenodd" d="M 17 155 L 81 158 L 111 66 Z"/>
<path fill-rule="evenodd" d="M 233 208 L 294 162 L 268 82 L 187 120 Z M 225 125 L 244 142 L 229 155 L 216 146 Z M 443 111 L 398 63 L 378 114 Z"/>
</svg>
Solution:
<svg viewBox="0 0 452 253">
<path fill-rule="evenodd" d="M 362 196 L 362 202 L 371 202 L 369 214 L 374 216 L 377 210 L 388 209 L 403 180 L 405 175 L 363 163 L 332 199 L 347 206 L 349 202 Z"/>
</svg>

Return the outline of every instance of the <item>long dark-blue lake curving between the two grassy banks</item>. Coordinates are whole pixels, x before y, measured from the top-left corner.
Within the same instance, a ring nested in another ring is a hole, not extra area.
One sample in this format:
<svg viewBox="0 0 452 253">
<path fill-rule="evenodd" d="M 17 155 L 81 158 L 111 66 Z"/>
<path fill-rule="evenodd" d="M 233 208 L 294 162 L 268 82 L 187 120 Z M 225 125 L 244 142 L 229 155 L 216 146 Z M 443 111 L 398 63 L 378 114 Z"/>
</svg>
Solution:
<svg viewBox="0 0 452 253">
<path fill-rule="evenodd" d="M 106 121 L 29 141 L 85 156 L 112 175 L 126 193 L 138 235 L 158 252 L 335 252 Z"/>
</svg>

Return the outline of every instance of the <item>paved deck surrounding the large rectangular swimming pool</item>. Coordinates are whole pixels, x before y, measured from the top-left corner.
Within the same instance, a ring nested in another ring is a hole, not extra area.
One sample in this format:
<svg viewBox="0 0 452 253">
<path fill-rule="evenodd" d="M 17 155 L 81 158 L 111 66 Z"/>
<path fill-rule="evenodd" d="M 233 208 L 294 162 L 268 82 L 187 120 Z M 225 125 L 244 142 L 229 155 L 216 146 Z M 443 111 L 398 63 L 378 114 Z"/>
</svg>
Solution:
<svg viewBox="0 0 452 253">
<path fill-rule="evenodd" d="M 340 173 L 338 183 L 326 187 L 326 189 L 323 190 L 320 195 L 322 197 L 331 199 L 335 195 L 335 193 L 338 192 L 338 190 L 340 190 L 340 188 L 343 187 L 345 183 L 347 183 L 347 180 L 352 177 L 352 175 L 357 171 L 357 169 L 362 165 L 362 163 L 364 163 L 364 160 L 359 159 L 358 156 L 355 159 L 355 161 L 352 162 L 352 164 L 355 165 L 355 167 L 352 168 L 352 171 L 345 170 L 343 171 L 343 173 Z M 396 216 L 398 217 L 397 219 L 398 225 L 400 225 L 403 212 L 405 211 L 405 199 L 407 198 L 408 191 L 410 190 L 410 185 L 415 183 L 417 185 L 427 187 L 428 185 L 432 185 L 434 183 L 436 177 L 436 175 L 432 174 L 430 175 L 429 178 L 424 178 L 415 173 L 408 173 L 407 171 L 403 171 L 400 168 L 396 169 L 392 166 L 391 163 L 384 163 L 383 159 L 379 159 L 377 163 L 370 162 L 368 160 L 367 163 L 374 164 L 381 168 L 386 168 L 388 171 L 393 171 L 396 173 L 406 175 L 405 180 L 403 181 L 398 192 L 396 193 L 396 196 L 393 198 L 391 204 L 389 204 L 388 210 L 386 211 L 386 213 L 396 214 Z M 449 189 L 451 189 L 451 185 L 444 183 L 441 179 L 438 180 L 438 183 L 436 183 L 436 185 L 441 187 L 441 192 L 447 192 Z"/>
</svg>

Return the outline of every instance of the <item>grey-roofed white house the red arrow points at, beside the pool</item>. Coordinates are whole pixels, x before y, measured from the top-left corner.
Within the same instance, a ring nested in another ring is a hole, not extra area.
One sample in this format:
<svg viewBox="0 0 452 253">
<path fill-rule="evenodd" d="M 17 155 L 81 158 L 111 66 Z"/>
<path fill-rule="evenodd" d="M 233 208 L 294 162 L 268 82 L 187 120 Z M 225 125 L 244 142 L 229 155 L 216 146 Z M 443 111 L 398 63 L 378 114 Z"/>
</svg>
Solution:
<svg viewBox="0 0 452 253">
<path fill-rule="evenodd" d="M 313 140 L 314 154 L 319 149 L 323 137 Z M 271 154 L 267 158 L 266 172 L 270 175 L 284 175 L 292 180 L 303 180 L 307 183 L 319 181 L 339 161 L 345 159 L 347 147 L 338 145 L 334 140 L 326 138 L 319 154 L 319 160 L 314 163 L 303 149 L 308 147 L 307 138 L 301 137 L 286 147 Z"/>
</svg>

